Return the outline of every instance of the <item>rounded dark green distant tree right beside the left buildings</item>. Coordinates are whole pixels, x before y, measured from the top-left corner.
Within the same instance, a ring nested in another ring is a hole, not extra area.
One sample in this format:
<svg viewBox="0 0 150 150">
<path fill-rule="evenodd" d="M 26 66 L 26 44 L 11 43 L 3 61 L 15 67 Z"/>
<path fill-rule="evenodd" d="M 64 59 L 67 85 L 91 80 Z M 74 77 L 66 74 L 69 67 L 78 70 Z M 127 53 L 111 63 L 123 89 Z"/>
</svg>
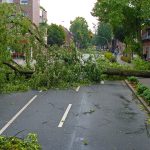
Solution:
<svg viewBox="0 0 150 150">
<path fill-rule="evenodd" d="M 49 45 L 58 45 L 61 46 L 65 43 L 65 32 L 62 26 L 51 24 L 48 26 L 48 40 Z"/>
</svg>

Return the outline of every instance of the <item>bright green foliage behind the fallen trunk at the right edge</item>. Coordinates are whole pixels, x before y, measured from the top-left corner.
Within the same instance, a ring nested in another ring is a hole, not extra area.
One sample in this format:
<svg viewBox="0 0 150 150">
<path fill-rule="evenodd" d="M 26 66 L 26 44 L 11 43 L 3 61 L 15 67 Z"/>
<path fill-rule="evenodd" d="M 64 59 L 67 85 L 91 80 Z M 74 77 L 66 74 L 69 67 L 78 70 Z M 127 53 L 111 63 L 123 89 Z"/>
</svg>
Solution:
<svg viewBox="0 0 150 150">
<path fill-rule="evenodd" d="M 140 57 L 135 58 L 132 61 L 134 68 L 136 70 L 147 70 L 150 71 L 150 63 L 147 61 L 142 60 Z"/>
</svg>

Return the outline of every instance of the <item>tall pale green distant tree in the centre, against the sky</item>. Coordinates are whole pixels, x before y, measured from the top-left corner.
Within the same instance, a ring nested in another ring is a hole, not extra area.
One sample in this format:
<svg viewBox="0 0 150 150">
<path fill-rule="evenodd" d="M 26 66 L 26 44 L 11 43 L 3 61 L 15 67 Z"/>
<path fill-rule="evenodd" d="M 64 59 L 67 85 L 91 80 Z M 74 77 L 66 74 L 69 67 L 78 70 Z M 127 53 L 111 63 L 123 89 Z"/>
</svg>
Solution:
<svg viewBox="0 0 150 150">
<path fill-rule="evenodd" d="M 70 31 L 74 36 L 74 42 L 78 48 L 87 48 L 90 42 L 90 35 L 87 21 L 82 17 L 77 17 L 71 22 Z"/>
</svg>

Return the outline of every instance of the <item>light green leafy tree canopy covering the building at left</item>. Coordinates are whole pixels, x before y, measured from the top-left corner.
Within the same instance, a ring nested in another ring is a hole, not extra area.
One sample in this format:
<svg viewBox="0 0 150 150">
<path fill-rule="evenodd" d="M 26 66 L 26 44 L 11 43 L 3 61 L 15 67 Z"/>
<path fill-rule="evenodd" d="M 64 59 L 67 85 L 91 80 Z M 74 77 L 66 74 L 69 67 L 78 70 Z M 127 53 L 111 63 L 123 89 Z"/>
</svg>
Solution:
<svg viewBox="0 0 150 150">
<path fill-rule="evenodd" d="M 37 42 L 38 41 L 38 42 Z M 15 4 L 0 4 L 0 62 L 11 60 L 11 52 L 22 52 L 27 61 L 31 47 L 39 49 L 44 44 L 40 32 Z"/>
</svg>

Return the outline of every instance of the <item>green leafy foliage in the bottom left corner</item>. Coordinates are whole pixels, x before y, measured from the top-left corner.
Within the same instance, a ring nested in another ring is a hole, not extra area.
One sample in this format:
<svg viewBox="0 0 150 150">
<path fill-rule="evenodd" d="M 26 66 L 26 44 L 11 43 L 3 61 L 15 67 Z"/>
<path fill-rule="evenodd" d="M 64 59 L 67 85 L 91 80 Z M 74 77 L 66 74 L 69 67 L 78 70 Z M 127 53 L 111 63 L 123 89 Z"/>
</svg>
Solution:
<svg viewBox="0 0 150 150">
<path fill-rule="evenodd" d="M 1 150 L 41 150 L 37 135 L 28 134 L 25 139 L 0 136 Z"/>
</svg>

